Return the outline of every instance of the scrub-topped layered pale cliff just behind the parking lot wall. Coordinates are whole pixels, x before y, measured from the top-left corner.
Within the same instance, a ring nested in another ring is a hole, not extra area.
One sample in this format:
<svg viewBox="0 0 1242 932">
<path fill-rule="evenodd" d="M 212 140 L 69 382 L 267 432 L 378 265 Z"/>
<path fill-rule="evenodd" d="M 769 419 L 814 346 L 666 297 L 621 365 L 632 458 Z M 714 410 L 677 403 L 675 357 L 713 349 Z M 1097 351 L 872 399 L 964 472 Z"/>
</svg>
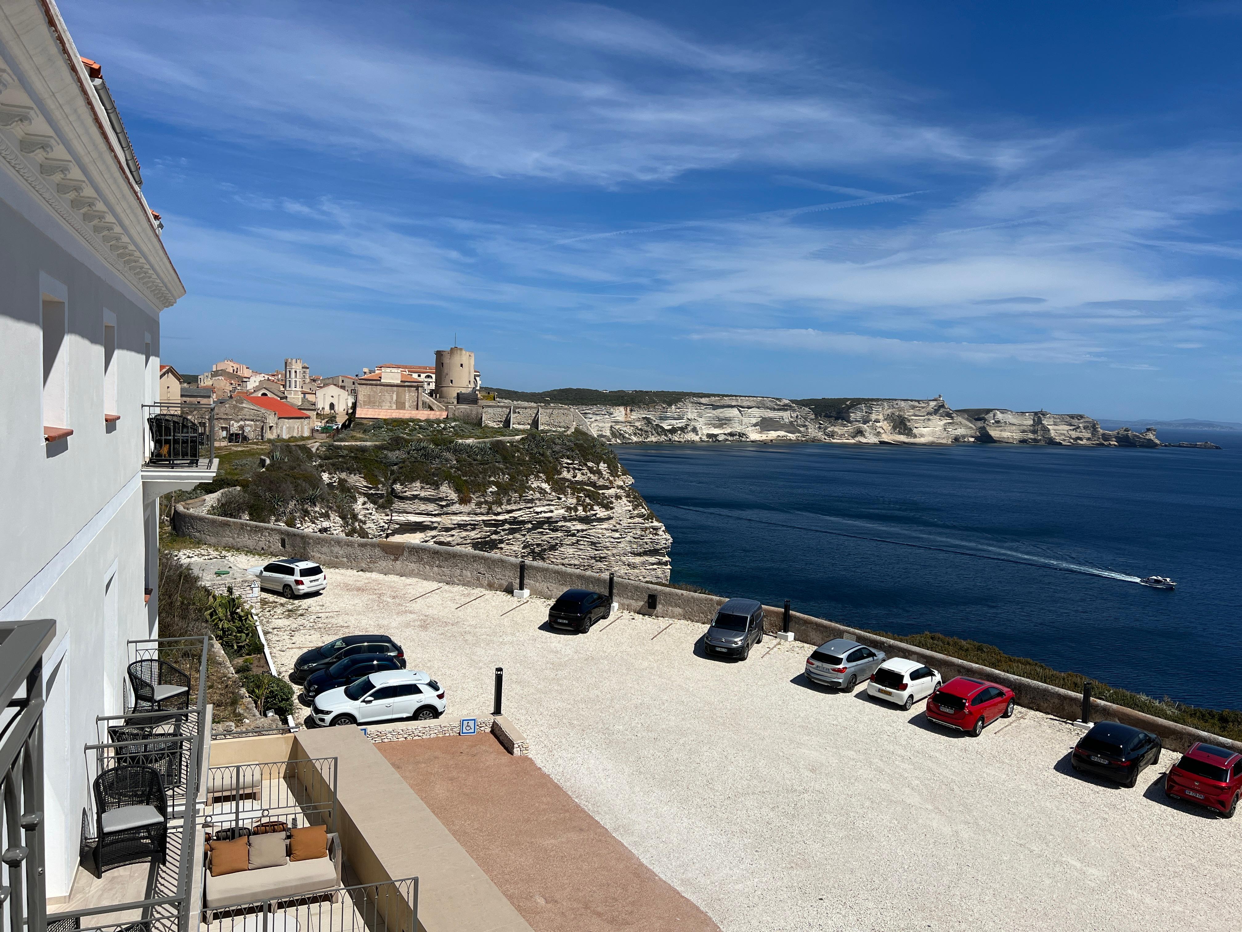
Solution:
<svg viewBox="0 0 1242 932">
<path fill-rule="evenodd" d="M 584 431 L 463 440 L 415 421 L 272 454 L 230 464 L 214 485 L 231 487 L 212 496 L 212 513 L 668 582 L 668 531 L 612 451 Z"/>
</svg>

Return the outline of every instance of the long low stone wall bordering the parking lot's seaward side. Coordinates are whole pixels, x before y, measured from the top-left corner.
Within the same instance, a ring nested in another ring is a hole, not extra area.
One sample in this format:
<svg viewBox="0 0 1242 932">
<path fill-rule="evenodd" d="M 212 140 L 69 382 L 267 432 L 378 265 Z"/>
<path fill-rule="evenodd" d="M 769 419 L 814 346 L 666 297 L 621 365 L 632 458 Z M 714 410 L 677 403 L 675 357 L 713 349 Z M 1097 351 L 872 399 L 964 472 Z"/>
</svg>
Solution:
<svg viewBox="0 0 1242 932">
<path fill-rule="evenodd" d="M 435 544 L 332 537 L 276 524 L 256 524 L 194 511 L 196 503 L 201 502 L 202 500 L 195 500 L 176 506 L 173 519 L 176 533 L 219 547 L 310 559 L 324 567 L 390 573 L 498 592 L 513 592 L 517 585 L 518 560 L 513 557 Z M 525 583 L 532 595 L 545 599 L 554 599 L 565 589 L 573 588 L 607 592 L 606 575 L 546 563 L 528 562 Z M 643 615 L 698 621 L 704 625 L 712 621 L 715 610 L 724 603 L 724 599 L 717 595 L 689 593 L 633 579 L 617 578 L 615 587 L 615 600 L 621 609 Z M 782 610 L 765 606 L 764 613 L 766 629 L 779 631 Z M 1058 718 L 1076 720 L 1082 710 L 1082 697 L 1068 690 L 956 660 L 799 611 L 790 613 L 790 630 L 796 640 L 812 645 L 833 637 L 852 637 L 861 644 L 878 647 L 889 656 L 909 657 L 927 664 L 938 670 L 945 680 L 954 676 L 972 676 L 1001 683 L 1013 690 L 1018 705 Z M 1092 700 L 1092 718 L 1112 720 L 1144 728 L 1159 734 L 1170 751 L 1185 751 L 1196 741 L 1207 741 L 1242 752 L 1242 743 L 1110 702 Z"/>
</svg>

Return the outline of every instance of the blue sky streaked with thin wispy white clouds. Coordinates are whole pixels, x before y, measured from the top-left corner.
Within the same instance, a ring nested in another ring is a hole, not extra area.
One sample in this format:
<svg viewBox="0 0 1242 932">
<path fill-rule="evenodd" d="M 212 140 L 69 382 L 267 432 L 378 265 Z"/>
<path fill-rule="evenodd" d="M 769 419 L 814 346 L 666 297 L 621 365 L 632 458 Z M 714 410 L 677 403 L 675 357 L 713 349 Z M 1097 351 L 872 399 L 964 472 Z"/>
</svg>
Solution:
<svg viewBox="0 0 1242 932">
<path fill-rule="evenodd" d="M 1242 2 L 61 9 L 183 372 L 1242 420 Z"/>
</svg>

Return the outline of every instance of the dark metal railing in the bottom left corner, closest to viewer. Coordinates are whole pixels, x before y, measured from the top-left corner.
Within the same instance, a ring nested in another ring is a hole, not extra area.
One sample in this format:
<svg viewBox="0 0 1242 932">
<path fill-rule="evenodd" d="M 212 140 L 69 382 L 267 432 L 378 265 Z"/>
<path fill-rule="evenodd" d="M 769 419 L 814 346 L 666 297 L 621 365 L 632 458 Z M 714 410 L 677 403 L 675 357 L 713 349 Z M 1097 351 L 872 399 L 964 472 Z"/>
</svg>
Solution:
<svg viewBox="0 0 1242 932">
<path fill-rule="evenodd" d="M 0 927 L 45 932 L 43 651 L 50 619 L 0 623 Z"/>
</svg>

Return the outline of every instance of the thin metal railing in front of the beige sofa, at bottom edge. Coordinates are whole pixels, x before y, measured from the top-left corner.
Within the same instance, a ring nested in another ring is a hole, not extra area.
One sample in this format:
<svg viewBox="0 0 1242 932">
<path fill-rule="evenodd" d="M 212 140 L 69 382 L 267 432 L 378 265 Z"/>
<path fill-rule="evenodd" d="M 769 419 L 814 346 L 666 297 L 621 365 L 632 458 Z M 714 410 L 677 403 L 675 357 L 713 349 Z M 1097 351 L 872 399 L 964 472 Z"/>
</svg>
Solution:
<svg viewBox="0 0 1242 932">
<path fill-rule="evenodd" d="M 360 884 L 214 911 L 206 932 L 416 932 L 419 879 Z"/>
</svg>

